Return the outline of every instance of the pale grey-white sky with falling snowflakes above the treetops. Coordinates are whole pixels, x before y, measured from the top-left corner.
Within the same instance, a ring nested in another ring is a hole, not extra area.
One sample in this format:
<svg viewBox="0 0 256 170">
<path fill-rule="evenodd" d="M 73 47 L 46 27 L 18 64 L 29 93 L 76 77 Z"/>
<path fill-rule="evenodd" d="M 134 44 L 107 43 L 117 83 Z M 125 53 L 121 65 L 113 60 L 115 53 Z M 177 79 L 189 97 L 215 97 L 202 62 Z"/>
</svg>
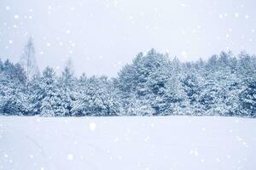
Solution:
<svg viewBox="0 0 256 170">
<path fill-rule="evenodd" d="M 155 48 L 182 61 L 222 50 L 256 54 L 255 0 L 0 0 L 0 58 L 20 61 L 33 37 L 36 59 L 61 72 L 115 77 Z"/>
</svg>

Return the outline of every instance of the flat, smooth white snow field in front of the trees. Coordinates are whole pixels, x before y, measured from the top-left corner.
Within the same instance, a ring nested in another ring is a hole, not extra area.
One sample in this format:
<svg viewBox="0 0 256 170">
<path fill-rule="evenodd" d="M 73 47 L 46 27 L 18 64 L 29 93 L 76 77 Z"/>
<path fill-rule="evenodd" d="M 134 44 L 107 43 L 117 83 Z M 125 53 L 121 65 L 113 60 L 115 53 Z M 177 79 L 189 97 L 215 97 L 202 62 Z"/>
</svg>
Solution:
<svg viewBox="0 0 256 170">
<path fill-rule="evenodd" d="M 256 119 L 0 116 L 0 169 L 256 169 Z"/>
</svg>

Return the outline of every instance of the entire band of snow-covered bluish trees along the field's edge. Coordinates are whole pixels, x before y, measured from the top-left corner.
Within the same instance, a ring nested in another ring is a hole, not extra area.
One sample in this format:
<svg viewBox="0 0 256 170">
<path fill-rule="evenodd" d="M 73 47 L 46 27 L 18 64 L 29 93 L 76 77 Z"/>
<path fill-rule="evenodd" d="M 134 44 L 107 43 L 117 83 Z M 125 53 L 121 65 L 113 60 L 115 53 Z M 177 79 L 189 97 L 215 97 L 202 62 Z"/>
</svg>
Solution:
<svg viewBox="0 0 256 170">
<path fill-rule="evenodd" d="M 20 63 L 0 60 L 0 113 L 20 116 L 256 116 L 256 57 L 241 52 L 181 62 L 154 49 L 118 77 L 61 76 L 34 61 L 30 39 Z"/>
</svg>

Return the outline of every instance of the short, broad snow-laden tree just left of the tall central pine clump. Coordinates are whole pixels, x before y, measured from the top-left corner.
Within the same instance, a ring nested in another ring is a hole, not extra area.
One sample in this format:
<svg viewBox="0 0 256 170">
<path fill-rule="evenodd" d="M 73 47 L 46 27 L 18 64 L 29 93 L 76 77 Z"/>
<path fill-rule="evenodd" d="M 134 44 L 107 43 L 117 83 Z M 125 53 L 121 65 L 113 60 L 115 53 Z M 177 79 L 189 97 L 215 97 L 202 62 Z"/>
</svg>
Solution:
<svg viewBox="0 0 256 170">
<path fill-rule="evenodd" d="M 107 77 L 90 77 L 85 80 L 83 94 L 73 104 L 74 116 L 119 115 L 119 99 L 114 95 Z"/>
</svg>

